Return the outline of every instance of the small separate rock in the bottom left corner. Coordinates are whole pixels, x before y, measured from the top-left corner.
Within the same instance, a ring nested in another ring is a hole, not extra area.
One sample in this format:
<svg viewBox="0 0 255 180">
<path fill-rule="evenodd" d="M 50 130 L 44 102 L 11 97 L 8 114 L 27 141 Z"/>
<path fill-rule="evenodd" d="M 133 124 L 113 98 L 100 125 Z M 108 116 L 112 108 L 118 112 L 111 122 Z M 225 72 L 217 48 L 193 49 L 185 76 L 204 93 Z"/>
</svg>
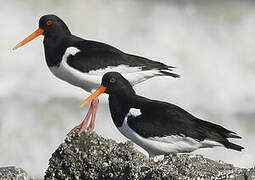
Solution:
<svg viewBox="0 0 255 180">
<path fill-rule="evenodd" d="M 15 166 L 1 167 L 0 179 L 18 179 L 18 180 L 31 180 L 26 171 Z"/>
</svg>

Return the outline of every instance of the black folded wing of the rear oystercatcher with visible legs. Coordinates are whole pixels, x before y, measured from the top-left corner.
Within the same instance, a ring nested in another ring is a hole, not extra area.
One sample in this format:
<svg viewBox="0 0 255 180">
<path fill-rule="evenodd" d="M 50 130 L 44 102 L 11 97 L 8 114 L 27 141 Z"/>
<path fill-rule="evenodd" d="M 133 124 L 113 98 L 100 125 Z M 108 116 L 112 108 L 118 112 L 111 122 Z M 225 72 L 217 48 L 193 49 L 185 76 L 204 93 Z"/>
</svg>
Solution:
<svg viewBox="0 0 255 180">
<path fill-rule="evenodd" d="M 73 40 L 70 41 L 69 46 L 77 47 L 80 52 L 74 56 L 69 56 L 67 63 L 81 72 L 124 64 L 129 67 L 139 67 L 141 70 L 159 69 L 162 71 L 162 74 L 173 77 L 179 76 L 169 72 L 174 68 L 172 66 L 167 66 L 144 57 L 126 54 L 105 43 L 79 39 L 75 36 L 72 36 L 72 38 Z"/>
</svg>

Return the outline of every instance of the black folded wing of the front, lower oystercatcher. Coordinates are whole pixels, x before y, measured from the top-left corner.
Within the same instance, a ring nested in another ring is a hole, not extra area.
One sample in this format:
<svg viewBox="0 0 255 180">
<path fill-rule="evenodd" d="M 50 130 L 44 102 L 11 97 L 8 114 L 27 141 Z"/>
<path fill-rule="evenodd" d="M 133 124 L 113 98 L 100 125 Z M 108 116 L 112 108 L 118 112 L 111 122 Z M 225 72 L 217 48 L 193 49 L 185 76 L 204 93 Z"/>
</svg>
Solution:
<svg viewBox="0 0 255 180">
<path fill-rule="evenodd" d="M 208 139 L 217 142 L 224 142 L 226 138 L 240 138 L 234 132 L 200 120 L 174 104 L 147 99 L 140 109 L 142 114 L 130 116 L 128 125 L 146 138 L 179 135 L 198 141 Z"/>
</svg>

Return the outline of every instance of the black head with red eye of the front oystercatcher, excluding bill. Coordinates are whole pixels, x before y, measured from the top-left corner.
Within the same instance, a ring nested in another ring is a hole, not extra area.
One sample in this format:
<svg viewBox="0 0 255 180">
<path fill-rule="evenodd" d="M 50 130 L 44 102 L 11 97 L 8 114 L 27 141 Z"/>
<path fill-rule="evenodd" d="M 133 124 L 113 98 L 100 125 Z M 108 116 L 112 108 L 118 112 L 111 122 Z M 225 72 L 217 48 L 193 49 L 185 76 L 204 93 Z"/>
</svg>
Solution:
<svg viewBox="0 0 255 180">
<path fill-rule="evenodd" d="M 130 82 L 118 72 L 108 72 L 102 78 L 102 86 L 106 87 L 105 93 L 111 95 L 132 95 L 135 94 Z"/>
</svg>

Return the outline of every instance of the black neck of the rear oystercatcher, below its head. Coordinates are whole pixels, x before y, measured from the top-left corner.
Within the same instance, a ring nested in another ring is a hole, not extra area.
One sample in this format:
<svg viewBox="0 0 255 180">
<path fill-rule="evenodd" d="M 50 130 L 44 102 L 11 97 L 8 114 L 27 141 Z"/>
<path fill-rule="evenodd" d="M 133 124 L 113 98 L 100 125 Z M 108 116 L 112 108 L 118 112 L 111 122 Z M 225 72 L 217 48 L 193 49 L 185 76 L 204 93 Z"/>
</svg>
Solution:
<svg viewBox="0 0 255 180">
<path fill-rule="evenodd" d="M 46 63 L 49 67 L 58 66 L 62 61 L 62 57 L 68 47 L 67 40 L 69 36 L 56 35 L 44 37 L 44 53 Z"/>
</svg>

